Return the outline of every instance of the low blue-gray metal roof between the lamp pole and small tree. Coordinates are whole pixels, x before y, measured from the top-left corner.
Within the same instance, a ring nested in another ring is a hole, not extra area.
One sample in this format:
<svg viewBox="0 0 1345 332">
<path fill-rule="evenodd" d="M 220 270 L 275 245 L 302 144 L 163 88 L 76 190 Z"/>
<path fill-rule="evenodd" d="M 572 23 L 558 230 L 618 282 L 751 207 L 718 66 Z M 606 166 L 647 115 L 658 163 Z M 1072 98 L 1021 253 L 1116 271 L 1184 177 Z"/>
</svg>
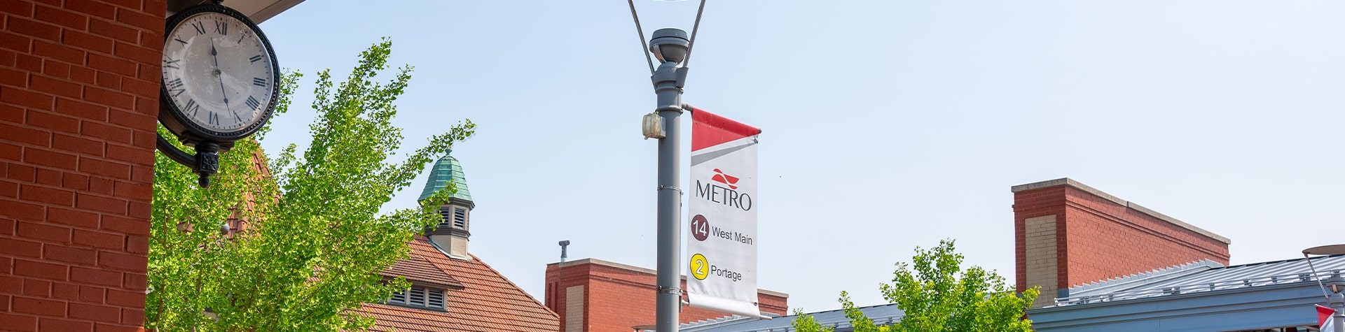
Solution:
<svg viewBox="0 0 1345 332">
<path fill-rule="evenodd" d="M 865 316 L 880 325 L 892 324 L 901 320 L 902 312 L 897 309 L 896 304 L 873 305 L 859 308 Z M 850 319 L 845 317 L 845 310 L 826 310 L 826 312 L 812 312 L 812 319 L 816 319 L 823 327 L 834 327 L 838 332 L 853 331 L 850 327 Z M 775 317 L 771 320 L 761 320 L 753 317 L 732 316 L 707 321 L 694 321 L 682 324 L 681 331 L 685 332 L 787 332 L 794 331 L 795 315 Z"/>
</svg>

